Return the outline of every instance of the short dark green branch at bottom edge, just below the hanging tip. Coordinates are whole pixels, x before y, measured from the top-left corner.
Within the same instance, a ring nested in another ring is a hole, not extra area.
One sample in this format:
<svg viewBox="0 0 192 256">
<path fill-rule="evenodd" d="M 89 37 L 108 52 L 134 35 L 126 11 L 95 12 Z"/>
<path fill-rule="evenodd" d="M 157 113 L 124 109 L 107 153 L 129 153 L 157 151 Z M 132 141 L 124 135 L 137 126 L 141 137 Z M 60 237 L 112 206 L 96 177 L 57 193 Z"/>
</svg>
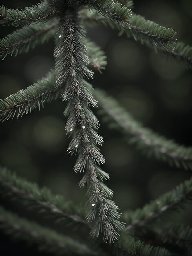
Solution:
<svg viewBox="0 0 192 256">
<path fill-rule="evenodd" d="M 132 236 L 121 234 L 120 240 L 114 245 L 116 256 L 171 256 L 167 249 L 154 247 L 141 241 L 135 241 Z"/>
</svg>

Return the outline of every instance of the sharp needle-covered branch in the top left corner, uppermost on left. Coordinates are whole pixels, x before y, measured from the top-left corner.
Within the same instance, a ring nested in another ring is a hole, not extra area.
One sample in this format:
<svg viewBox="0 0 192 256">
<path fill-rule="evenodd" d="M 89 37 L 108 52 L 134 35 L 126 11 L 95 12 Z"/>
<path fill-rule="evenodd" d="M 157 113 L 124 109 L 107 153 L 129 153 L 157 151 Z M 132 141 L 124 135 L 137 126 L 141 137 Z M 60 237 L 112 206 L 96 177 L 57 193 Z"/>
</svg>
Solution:
<svg viewBox="0 0 192 256">
<path fill-rule="evenodd" d="M 14 26 L 29 25 L 32 22 L 46 22 L 56 16 L 56 7 L 45 0 L 24 10 L 7 9 L 0 5 L 0 25 Z"/>
</svg>

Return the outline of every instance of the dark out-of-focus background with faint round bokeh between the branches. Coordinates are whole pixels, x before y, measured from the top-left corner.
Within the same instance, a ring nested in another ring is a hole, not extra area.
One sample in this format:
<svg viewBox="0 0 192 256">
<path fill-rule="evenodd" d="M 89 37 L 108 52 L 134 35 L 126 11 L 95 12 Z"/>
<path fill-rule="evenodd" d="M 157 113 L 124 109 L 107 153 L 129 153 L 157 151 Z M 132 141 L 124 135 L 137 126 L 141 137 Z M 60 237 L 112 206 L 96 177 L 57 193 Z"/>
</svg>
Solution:
<svg viewBox="0 0 192 256">
<path fill-rule="evenodd" d="M 35 0 L 1 2 L 9 8 L 22 9 Z M 177 31 L 176 38 L 192 45 L 191 0 L 134 0 L 135 13 Z M 1 37 L 14 30 L 1 27 Z M 95 73 L 94 87 L 114 95 L 122 106 L 145 126 L 172 138 L 179 144 L 192 146 L 192 74 L 182 64 L 166 60 L 161 54 L 127 39 L 118 31 L 98 26 L 88 31 L 107 54 L 108 65 L 103 74 Z M 54 40 L 36 47 L 28 54 L 0 61 L 0 98 L 17 92 L 45 76 L 54 67 Z M 63 110 L 58 99 L 22 118 L 0 125 L 0 164 L 27 180 L 47 186 L 54 194 L 77 204 L 86 202 L 86 190 L 78 187 L 82 173 L 73 166 L 76 157 L 66 153 L 69 139 L 65 136 Z M 99 117 L 99 116 L 98 116 Z M 109 130 L 100 121 L 105 140 L 102 153 L 104 171 L 110 174 L 107 185 L 121 211 L 142 207 L 146 202 L 173 189 L 190 172 L 179 171 L 154 159 L 145 158 L 129 146 L 121 132 Z M 190 220 L 191 213 L 176 216 L 177 221 Z"/>
</svg>

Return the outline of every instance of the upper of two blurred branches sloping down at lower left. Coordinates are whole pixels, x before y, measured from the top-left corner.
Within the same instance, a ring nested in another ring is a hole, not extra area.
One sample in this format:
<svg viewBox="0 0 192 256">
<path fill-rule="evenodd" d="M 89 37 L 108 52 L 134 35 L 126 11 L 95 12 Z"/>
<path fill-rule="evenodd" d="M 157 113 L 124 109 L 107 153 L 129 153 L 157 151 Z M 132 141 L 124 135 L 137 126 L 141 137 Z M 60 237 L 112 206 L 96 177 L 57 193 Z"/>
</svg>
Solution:
<svg viewBox="0 0 192 256">
<path fill-rule="evenodd" d="M 2 167 L 0 167 L 0 191 L 1 196 L 17 200 L 30 209 L 38 209 L 41 214 L 52 216 L 57 221 L 75 228 L 78 226 L 90 228 L 84 220 L 83 209 L 75 207 L 71 202 L 65 202 L 62 196 L 54 196 L 48 189 L 40 189 L 37 184 L 27 182 Z"/>
</svg>

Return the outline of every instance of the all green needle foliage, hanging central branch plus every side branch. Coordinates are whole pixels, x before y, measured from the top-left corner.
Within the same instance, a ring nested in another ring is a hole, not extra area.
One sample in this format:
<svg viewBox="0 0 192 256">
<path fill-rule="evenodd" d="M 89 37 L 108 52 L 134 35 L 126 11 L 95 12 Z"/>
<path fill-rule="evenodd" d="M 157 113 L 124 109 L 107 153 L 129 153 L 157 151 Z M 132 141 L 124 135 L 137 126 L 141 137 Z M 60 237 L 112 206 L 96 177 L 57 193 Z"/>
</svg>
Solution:
<svg viewBox="0 0 192 256">
<path fill-rule="evenodd" d="M 3 59 L 55 38 L 54 70 L 26 89 L 0 99 L 0 120 L 22 117 L 36 108 L 40 110 L 58 97 L 67 102 L 65 130 L 71 138 L 67 152 L 77 155 L 74 171 L 85 172 L 79 185 L 87 188 L 88 200 L 85 208 L 74 206 L 62 196 L 54 196 L 48 189 L 40 189 L 2 167 L 0 197 L 27 206 L 27 211 L 37 209 L 36 215 L 49 217 L 52 222 L 60 221 L 64 227 L 70 225 L 73 230 L 83 229 L 91 235 L 82 243 L 57 233 L 54 227 L 47 229 L 1 207 L 0 229 L 11 238 L 34 243 L 38 249 L 54 255 L 179 255 L 170 249 L 175 243 L 184 252 L 192 252 L 191 227 L 174 226 L 167 233 L 155 227 L 156 222 L 191 202 L 192 179 L 142 209 L 124 213 L 125 225 L 116 203 L 111 200 L 112 190 L 104 184 L 109 174 L 100 168 L 105 158 L 99 148 L 103 144 L 97 133 L 99 121 L 92 112 L 97 103 L 103 119 L 113 127 L 120 127 L 129 144 L 178 168 L 192 169 L 191 148 L 144 128 L 115 99 L 102 90 L 93 90 L 86 81 L 93 79 L 93 70 L 101 72 L 107 64 L 105 53 L 86 38 L 85 28 L 98 24 L 116 28 L 120 35 L 126 33 L 128 38 L 192 67 L 192 47 L 176 43 L 173 29 L 132 14 L 132 8 L 132 0 L 45 0 L 24 10 L 0 6 L 0 24 L 22 26 L 0 40 Z M 159 237 L 161 247 L 139 240 L 142 232 L 149 231 Z"/>
</svg>

